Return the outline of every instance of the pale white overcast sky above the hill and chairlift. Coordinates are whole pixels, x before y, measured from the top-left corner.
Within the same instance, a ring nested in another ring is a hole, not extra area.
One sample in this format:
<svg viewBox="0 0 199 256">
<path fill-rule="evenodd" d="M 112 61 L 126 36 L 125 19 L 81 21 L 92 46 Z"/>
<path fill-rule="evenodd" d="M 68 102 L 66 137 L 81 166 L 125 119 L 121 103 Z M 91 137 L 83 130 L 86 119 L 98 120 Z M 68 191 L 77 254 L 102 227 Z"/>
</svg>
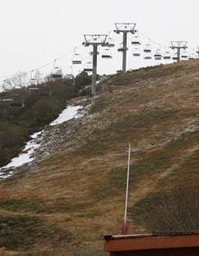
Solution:
<svg viewBox="0 0 199 256">
<path fill-rule="evenodd" d="M 135 22 L 142 34 L 160 44 L 187 40 L 194 47 L 199 44 L 198 12 L 198 0 L 2 0 L 0 76 L 29 71 L 62 54 L 65 58 L 57 65 L 67 73 L 75 45 L 80 45 L 84 61 L 89 60 L 89 50 L 81 46 L 82 35 L 109 33 L 115 22 Z M 121 41 L 120 35 L 114 37 Z M 100 73 L 121 68 L 121 55 L 112 51 L 113 60 L 105 62 L 99 56 Z M 132 55 L 130 49 L 128 55 Z M 128 59 L 128 68 L 137 67 L 138 62 Z"/>
</svg>

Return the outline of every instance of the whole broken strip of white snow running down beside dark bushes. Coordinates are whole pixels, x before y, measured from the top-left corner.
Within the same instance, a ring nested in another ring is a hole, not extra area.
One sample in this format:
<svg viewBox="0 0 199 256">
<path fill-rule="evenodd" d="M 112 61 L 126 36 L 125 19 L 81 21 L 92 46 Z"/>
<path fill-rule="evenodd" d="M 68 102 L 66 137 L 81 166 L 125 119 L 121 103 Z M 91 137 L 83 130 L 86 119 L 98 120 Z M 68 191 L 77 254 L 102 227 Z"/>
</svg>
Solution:
<svg viewBox="0 0 199 256">
<path fill-rule="evenodd" d="M 67 106 L 62 113 L 58 116 L 57 119 L 55 119 L 52 123 L 50 123 L 51 126 L 57 125 L 60 123 L 67 122 L 71 120 L 72 118 L 79 118 L 81 117 L 81 114 L 79 111 L 82 109 L 80 105 L 78 106 Z M 41 131 L 39 133 L 33 133 L 31 135 L 32 140 L 30 140 L 28 143 L 26 143 L 24 150 L 22 153 L 20 153 L 17 157 L 14 157 L 11 162 L 9 162 L 7 165 L 0 168 L 0 180 L 5 179 L 7 177 L 12 176 L 13 169 L 17 168 L 19 166 L 24 165 L 25 163 L 33 162 L 34 156 L 33 153 L 35 153 L 35 150 L 40 147 L 42 143 L 44 131 Z"/>
</svg>

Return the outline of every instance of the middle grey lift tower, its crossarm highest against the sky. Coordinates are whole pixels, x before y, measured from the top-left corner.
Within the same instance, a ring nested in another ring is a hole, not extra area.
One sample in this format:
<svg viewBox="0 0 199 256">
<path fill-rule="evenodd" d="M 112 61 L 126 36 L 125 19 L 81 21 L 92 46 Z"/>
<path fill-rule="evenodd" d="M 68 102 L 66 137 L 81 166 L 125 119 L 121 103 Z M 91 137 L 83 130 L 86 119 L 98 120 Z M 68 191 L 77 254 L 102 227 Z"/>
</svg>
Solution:
<svg viewBox="0 0 199 256">
<path fill-rule="evenodd" d="M 116 30 L 114 32 L 116 34 L 123 34 L 123 46 L 122 46 L 122 72 L 127 72 L 127 51 L 128 51 L 128 33 L 135 34 L 137 31 L 136 23 L 115 23 Z"/>
</svg>

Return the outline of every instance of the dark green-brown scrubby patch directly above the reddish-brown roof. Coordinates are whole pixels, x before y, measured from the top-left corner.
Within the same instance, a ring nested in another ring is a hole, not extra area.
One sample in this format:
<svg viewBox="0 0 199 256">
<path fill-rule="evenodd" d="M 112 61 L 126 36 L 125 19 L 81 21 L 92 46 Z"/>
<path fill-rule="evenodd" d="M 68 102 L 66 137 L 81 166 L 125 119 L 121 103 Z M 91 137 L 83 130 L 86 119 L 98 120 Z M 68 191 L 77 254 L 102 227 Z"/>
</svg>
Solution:
<svg viewBox="0 0 199 256">
<path fill-rule="evenodd" d="M 149 231 L 197 231 L 199 190 L 185 186 L 170 192 L 154 192 L 128 208 L 130 218 Z"/>
</svg>

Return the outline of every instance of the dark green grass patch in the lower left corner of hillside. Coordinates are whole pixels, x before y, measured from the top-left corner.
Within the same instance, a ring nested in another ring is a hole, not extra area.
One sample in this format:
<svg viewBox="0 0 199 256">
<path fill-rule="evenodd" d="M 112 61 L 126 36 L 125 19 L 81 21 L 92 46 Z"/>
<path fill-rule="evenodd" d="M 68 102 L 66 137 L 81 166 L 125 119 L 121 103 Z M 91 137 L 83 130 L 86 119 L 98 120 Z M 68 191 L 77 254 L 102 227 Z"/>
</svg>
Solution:
<svg viewBox="0 0 199 256">
<path fill-rule="evenodd" d="M 71 233 L 46 225 L 31 216 L 0 216 L 0 247 L 7 250 L 28 250 L 41 241 L 71 242 Z"/>
</svg>

